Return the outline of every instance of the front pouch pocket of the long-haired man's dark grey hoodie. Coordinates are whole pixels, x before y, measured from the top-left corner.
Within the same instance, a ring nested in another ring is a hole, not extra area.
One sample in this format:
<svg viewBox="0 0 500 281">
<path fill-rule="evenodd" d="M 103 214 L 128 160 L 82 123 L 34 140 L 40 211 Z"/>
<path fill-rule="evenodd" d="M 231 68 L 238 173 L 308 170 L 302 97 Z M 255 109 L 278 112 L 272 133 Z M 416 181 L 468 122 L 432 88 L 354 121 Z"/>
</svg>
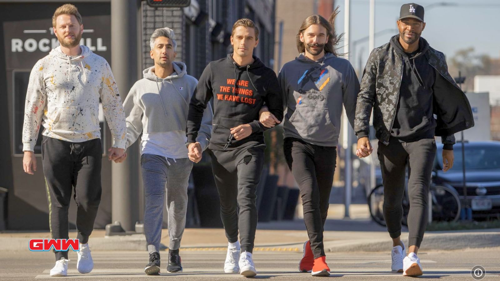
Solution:
<svg viewBox="0 0 500 281">
<path fill-rule="evenodd" d="M 305 139 L 327 141 L 338 136 L 327 108 L 297 106 L 289 121 L 291 129 Z"/>
</svg>

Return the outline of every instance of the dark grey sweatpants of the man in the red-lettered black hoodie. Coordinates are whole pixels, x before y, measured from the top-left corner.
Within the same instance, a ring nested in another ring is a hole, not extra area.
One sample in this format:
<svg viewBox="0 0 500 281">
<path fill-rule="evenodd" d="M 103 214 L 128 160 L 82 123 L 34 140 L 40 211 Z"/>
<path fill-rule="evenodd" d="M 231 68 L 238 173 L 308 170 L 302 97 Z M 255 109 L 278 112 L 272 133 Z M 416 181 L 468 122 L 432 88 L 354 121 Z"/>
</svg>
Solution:
<svg viewBox="0 0 500 281">
<path fill-rule="evenodd" d="M 227 241 L 238 240 L 241 252 L 252 252 L 257 228 L 255 190 L 264 163 L 265 144 L 234 150 L 208 150 L 220 199 L 220 218 Z M 239 206 L 239 215 L 237 213 Z M 238 219 L 239 218 L 239 219 Z"/>
</svg>

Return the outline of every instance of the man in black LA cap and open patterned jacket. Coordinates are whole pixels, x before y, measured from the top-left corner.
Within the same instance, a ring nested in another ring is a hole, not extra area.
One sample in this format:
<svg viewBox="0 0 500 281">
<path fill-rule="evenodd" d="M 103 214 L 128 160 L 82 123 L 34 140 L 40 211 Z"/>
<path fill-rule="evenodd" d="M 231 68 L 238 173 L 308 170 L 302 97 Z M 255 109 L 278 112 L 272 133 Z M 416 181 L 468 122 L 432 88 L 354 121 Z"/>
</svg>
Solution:
<svg viewBox="0 0 500 281">
<path fill-rule="evenodd" d="M 378 138 L 383 180 L 383 216 L 392 238 L 392 272 L 422 274 L 416 253 L 427 224 L 427 198 L 436 144 L 441 136 L 443 171 L 453 166 L 454 133 L 474 125 L 470 104 L 448 73 L 442 52 L 420 37 L 423 7 L 403 4 L 399 34 L 371 52 L 356 105 L 356 155 L 372 152 L 369 119 Z M 434 118 L 433 114 L 437 116 Z M 408 255 L 400 240 L 401 200 L 408 166 Z"/>
</svg>

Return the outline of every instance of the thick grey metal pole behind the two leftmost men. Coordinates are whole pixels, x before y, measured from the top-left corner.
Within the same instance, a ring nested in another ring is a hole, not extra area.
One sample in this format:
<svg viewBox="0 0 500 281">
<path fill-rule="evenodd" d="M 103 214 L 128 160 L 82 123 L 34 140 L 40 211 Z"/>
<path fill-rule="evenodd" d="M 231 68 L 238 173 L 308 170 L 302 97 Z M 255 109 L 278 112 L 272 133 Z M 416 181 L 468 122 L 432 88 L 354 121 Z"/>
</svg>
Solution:
<svg viewBox="0 0 500 281">
<path fill-rule="evenodd" d="M 139 0 L 111 0 L 111 68 L 122 101 L 137 80 L 137 13 Z M 128 158 L 111 163 L 111 220 L 133 231 L 138 220 L 138 144 L 127 148 Z"/>
</svg>

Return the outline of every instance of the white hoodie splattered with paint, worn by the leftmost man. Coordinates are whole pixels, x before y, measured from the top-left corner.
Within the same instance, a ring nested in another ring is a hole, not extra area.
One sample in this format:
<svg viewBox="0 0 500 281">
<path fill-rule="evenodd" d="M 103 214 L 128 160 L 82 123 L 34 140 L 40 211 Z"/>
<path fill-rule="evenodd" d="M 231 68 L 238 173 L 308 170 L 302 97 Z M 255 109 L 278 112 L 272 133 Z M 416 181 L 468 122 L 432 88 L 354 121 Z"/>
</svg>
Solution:
<svg viewBox="0 0 500 281">
<path fill-rule="evenodd" d="M 42 134 L 69 142 L 100 137 L 99 98 L 113 135 L 113 147 L 125 148 L 125 113 L 107 61 L 80 45 L 81 53 L 64 54 L 60 46 L 36 62 L 24 106 L 23 151 L 33 151 Z"/>
</svg>

